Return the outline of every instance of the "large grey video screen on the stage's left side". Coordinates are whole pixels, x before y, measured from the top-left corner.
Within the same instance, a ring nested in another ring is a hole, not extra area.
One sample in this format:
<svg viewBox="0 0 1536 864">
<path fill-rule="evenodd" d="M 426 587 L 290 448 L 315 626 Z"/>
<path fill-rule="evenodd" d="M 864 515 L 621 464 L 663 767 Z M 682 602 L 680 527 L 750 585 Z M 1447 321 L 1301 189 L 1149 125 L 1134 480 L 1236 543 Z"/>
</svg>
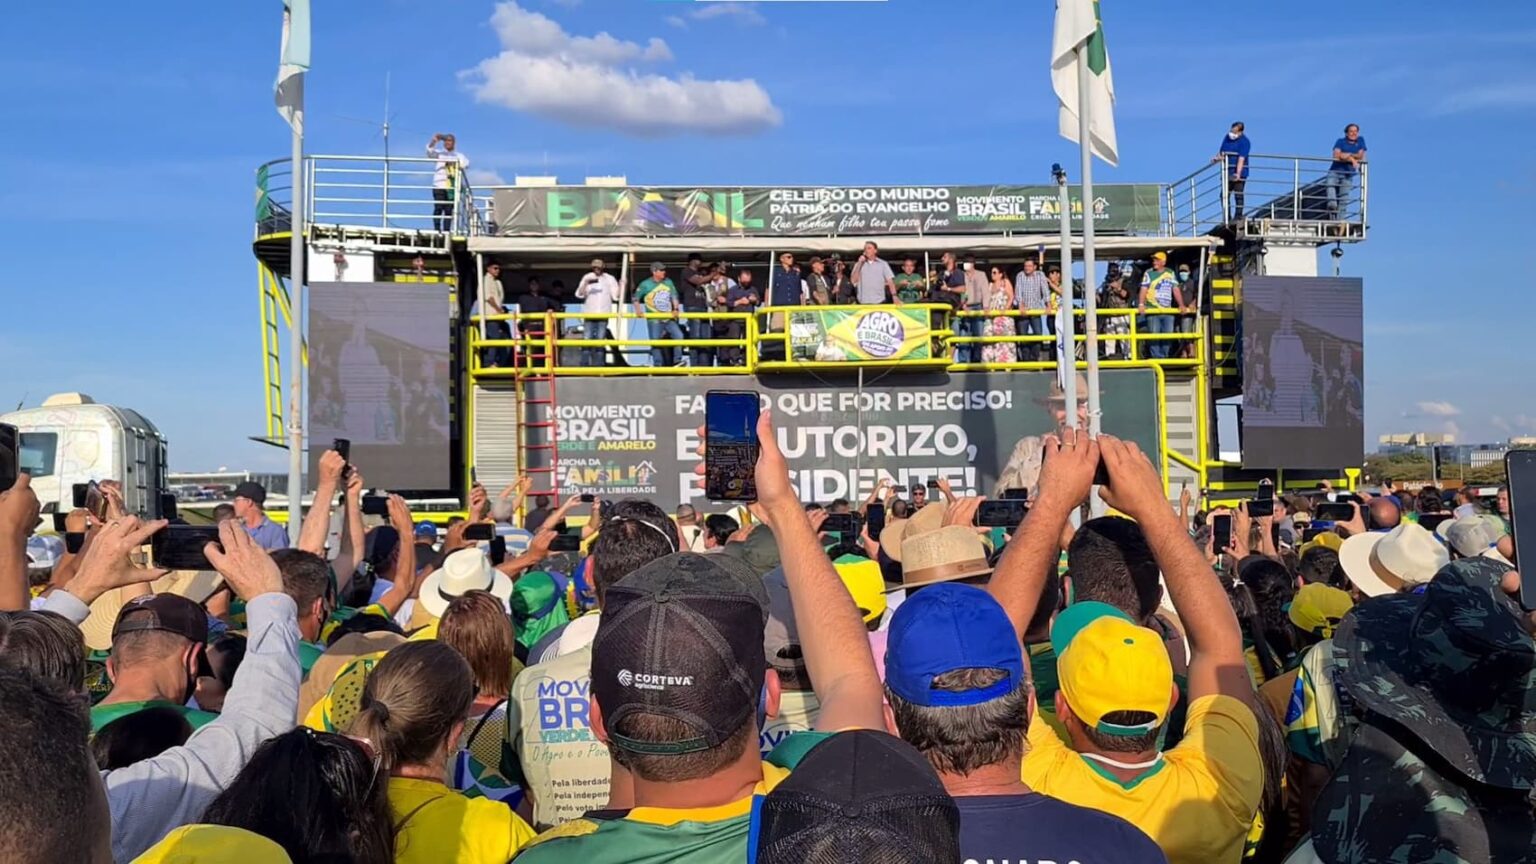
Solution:
<svg viewBox="0 0 1536 864">
<path fill-rule="evenodd" d="M 449 477 L 449 303 L 441 284 L 309 284 L 309 458 L 352 441 L 369 486 L 438 490 Z"/>
</svg>

